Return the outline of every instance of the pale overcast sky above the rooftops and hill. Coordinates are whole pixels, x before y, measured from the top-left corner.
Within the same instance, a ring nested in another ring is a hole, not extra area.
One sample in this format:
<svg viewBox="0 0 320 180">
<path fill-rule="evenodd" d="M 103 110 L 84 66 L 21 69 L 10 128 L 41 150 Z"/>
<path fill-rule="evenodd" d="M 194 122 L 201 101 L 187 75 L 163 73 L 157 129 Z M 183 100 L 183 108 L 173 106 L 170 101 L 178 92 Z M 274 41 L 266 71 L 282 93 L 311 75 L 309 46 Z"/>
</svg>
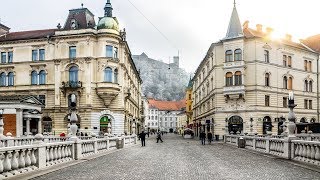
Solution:
<svg viewBox="0 0 320 180">
<path fill-rule="evenodd" d="M 111 0 L 113 15 L 126 28 L 133 54 L 172 62 L 180 51 L 180 64 L 196 70 L 210 44 L 227 31 L 233 0 L 130 0 L 169 39 L 166 40 L 128 0 Z M 64 24 L 68 10 L 88 8 L 103 16 L 106 0 L 0 0 L 1 22 L 11 31 L 55 28 Z M 319 0 L 237 0 L 240 21 L 272 27 L 294 39 L 320 33 Z"/>
</svg>

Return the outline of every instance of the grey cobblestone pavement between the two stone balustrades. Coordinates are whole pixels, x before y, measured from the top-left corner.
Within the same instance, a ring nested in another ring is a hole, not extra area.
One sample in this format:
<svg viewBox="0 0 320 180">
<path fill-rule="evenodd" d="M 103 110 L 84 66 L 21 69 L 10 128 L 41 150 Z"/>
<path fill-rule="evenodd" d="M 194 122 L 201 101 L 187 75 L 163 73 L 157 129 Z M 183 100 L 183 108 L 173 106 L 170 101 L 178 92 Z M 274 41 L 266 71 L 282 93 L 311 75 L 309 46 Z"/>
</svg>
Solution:
<svg viewBox="0 0 320 180">
<path fill-rule="evenodd" d="M 36 179 L 320 179 L 320 173 L 222 143 L 200 145 L 168 134 Z M 320 171 L 320 169 L 319 169 Z"/>
</svg>

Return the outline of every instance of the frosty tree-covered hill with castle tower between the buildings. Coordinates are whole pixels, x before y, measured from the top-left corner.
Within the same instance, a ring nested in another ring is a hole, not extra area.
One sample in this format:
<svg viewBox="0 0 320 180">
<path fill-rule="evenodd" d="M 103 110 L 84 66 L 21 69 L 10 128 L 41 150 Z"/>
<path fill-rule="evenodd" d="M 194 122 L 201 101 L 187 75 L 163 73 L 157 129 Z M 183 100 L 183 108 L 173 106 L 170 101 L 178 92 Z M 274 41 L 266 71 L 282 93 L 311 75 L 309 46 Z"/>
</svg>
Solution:
<svg viewBox="0 0 320 180">
<path fill-rule="evenodd" d="M 145 96 L 166 101 L 184 98 L 189 75 L 179 68 L 179 57 L 174 57 L 170 64 L 151 59 L 145 53 L 133 55 L 132 59 L 140 70 Z"/>
</svg>

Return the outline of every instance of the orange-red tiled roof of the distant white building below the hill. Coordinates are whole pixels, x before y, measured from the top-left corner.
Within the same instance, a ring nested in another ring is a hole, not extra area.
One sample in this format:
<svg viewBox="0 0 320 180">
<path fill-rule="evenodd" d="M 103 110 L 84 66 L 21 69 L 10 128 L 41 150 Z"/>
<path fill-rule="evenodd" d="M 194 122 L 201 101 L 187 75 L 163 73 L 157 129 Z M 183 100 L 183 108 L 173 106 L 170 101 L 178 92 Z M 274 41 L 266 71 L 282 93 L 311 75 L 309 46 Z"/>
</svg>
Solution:
<svg viewBox="0 0 320 180">
<path fill-rule="evenodd" d="M 155 108 L 160 111 L 180 111 L 186 107 L 186 100 L 180 101 L 158 101 L 149 99 L 149 108 Z"/>
</svg>

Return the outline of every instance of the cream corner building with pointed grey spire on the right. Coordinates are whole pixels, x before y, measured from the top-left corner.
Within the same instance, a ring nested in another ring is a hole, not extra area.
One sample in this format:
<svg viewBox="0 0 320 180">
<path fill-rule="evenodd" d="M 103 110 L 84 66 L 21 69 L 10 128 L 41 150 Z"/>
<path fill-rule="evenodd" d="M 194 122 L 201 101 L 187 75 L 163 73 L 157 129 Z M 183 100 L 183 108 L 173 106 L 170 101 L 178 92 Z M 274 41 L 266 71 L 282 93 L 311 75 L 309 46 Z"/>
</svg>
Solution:
<svg viewBox="0 0 320 180">
<path fill-rule="evenodd" d="M 196 134 L 280 134 L 290 91 L 298 133 L 319 130 L 318 54 L 290 35 L 272 39 L 272 31 L 241 26 L 234 6 L 226 37 L 210 46 L 193 78 Z"/>
</svg>

